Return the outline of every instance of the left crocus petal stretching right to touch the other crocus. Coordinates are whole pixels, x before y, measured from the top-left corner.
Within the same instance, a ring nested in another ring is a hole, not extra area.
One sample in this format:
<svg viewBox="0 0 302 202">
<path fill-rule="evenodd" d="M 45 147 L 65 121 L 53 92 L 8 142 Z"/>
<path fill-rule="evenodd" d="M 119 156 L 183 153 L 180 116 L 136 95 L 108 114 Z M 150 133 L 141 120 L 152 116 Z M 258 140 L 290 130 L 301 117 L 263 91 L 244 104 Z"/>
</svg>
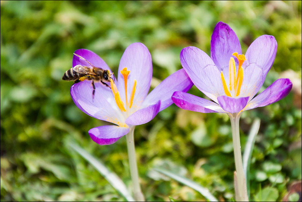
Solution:
<svg viewBox="0 0 302 202">
<path fill-rule="evenodd" d="M 193 86 L 193 82 L 184 69 L 178 70 L 163 80 L 146 97 L 143 106 L 162 100 L 159 111 L 170 106 L 173 101 L 171 96 L 175 91 L 187 92 Z"/>
</svg>

